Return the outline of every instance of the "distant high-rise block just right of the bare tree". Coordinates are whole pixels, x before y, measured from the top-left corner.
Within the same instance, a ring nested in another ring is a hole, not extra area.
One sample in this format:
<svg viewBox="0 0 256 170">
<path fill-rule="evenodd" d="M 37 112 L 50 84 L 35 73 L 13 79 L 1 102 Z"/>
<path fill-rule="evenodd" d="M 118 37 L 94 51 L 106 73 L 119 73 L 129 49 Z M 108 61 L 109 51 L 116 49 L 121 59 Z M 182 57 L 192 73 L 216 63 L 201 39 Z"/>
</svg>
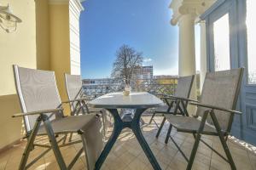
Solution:
<svg viewBox="0 0 256 170">
<path fill-rule="evenodd" d="M 141 67 L 135 69 L 135 72 L 136 72 L 135 77 L 138 80 L 152 79 L 153 78 L 153 65 L 141 66 Z"/>
</svg>

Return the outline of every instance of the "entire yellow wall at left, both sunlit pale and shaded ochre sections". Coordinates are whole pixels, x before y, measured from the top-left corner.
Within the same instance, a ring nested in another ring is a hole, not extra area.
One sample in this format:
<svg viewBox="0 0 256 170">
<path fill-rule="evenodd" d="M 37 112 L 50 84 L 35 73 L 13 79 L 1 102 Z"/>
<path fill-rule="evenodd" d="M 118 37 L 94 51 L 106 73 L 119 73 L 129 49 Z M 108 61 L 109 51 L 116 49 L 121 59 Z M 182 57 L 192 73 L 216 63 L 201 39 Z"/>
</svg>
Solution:
<svg viewBox="0 0 256 170">
<path fill-rule="evenodd" d="M 48 0 L 2 0 L 20 17 L 17 31 L 0 29 L 0 150 L 23 135 L 12 65 L 55 71 L 62 100 L 67 100 L 64 73 L 71 71 L 69 4 Z M 78 25 L 79 26 L 79 25 Z M 65 107 L 66 113 L 69 106 Z"/>
</svg>

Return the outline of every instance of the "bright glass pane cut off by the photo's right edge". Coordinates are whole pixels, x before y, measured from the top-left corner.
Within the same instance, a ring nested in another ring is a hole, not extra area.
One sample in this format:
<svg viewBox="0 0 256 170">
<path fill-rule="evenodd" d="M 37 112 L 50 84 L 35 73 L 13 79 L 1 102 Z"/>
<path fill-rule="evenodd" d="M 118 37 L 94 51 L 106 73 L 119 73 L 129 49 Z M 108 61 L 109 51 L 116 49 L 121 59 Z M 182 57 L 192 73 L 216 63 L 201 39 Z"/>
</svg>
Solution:
<svg viewBox="0 0 256 170">
<path fill-rule="evenodd" d="M 256 1 L 247 0 L 247 63 L 248 83 L 256 84 Z"/>
</svg>

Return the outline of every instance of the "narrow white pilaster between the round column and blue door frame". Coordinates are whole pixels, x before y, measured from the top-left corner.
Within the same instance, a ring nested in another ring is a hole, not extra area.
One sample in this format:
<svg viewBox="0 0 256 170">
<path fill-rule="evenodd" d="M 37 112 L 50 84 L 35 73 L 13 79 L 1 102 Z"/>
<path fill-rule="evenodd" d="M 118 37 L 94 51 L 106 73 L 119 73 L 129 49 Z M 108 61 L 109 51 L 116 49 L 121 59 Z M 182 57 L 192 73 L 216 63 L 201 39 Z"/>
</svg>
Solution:
<svg viewBox="0 0 256 170">
<path fill-rule="evenodd" d="M 206 73 L 207 73 L 207 31 L 206 31 L 206 22 L 201 21 L 201 73 L 200 73 L 200 87 L 202 89 L 203 83 L 205 81 Z"/>
</svg>

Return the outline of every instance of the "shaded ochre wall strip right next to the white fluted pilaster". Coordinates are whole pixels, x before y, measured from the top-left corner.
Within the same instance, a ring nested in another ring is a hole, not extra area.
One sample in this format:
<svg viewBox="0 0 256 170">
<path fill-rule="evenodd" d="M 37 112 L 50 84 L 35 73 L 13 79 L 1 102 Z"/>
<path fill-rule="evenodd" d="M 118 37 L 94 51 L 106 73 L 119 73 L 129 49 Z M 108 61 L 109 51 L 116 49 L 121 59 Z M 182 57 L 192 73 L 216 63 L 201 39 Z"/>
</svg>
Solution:
<svg viewBox="0 0 256 170">
<path fill-rule="evenodd" d="M 67 100 L 64 73 L 70 73 L 69 8 L 66 4 L 49 5 L 50 70 L 55 71 L 61 100 Z M 65 107 L 68 112 L 68 105 Z"/>
</svg>

